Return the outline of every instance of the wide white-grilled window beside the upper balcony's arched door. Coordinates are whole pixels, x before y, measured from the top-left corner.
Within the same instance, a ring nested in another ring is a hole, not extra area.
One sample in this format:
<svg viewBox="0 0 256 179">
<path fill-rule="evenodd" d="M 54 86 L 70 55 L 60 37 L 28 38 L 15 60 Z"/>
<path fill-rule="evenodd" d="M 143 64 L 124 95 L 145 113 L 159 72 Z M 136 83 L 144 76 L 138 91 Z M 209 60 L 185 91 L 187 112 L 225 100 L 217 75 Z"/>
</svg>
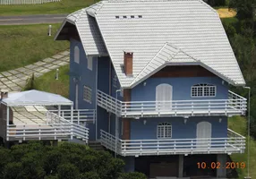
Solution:
<svg viewBox="0 0 256 179">
<path fill-rule="evenodd" d="M 216 86 L 211 84 L 196 84 L 192 86 L 192 97 L 215 97 Z"/>
</svg>

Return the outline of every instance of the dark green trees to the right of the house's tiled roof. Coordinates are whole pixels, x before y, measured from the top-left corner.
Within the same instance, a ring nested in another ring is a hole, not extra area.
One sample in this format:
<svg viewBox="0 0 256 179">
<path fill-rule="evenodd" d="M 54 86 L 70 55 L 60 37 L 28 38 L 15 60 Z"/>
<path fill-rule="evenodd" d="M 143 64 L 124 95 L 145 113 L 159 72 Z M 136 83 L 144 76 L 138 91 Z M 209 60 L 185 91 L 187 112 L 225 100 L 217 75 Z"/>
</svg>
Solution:
<svg viewBox="0 0 256 179">
<path fill-rule="evenodd" d="M 251 135 L 256 139 L 256 38 L 255 8 L 256 0 L 231 0 L 229 8 L 237 12 L 236 18 L 223 19 L 227 37 L 243 72 L 247 86 L 251 87 Z M 248 90 L 233 89 L 248 98 Z"/>
</svg>

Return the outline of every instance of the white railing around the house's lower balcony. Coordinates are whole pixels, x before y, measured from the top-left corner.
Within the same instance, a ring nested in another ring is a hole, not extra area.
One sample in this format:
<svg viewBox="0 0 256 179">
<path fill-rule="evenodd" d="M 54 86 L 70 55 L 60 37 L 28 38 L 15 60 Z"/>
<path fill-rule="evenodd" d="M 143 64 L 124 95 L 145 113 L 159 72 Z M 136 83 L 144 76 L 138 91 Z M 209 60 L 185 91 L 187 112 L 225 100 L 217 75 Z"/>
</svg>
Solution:
<svg viewBox="0 0 256 179">
<path fill-rule="evenodd" d="M 120 140 L 100 131 L 101 144 L 121 156 L 243 153 L 245 138 L 228 129 L 232 137 L 209 139 Z M 116 147 L 116 148 L 115 148 Z M 116 150 L 115 150 L 116 149 Z"/>
</svg>

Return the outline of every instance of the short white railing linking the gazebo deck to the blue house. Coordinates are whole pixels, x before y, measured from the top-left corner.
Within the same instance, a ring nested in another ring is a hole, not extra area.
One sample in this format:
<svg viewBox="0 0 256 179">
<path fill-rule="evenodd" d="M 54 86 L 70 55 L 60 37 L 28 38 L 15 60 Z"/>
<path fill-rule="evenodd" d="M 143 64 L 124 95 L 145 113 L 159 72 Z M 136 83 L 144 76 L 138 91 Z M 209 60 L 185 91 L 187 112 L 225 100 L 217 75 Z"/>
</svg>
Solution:
<svg viewBox="0 0 256 179">
<path fill-rule="evenodd" d="M 58 110 L 50 110 L 50 112 L 58 114 Z M 64 109 L 60 110 L 60 115 L 68 120 L 71 121 L 71 110 Z M 96 110 L 95 109 L 74 109 L 73 110 L 73 123 L 74 124 L 81 124 L 85 122 L 95 122 L 96 120 Z"/>
</svg>

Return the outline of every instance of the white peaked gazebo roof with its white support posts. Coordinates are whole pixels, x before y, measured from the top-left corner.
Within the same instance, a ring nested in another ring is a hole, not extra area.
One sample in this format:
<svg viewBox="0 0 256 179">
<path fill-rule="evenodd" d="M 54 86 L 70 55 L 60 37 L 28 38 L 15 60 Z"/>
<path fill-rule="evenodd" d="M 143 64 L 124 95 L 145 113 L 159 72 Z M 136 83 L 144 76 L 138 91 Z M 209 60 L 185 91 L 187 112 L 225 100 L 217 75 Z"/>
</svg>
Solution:
<svg viewBox="0 0 256 179">
<path fill-rule="evenodd" d="M 22 92 L 10 93 L 7 98 L 3 98 L 1 103 L 7 107 L 6 121 L 9 124 L 9 107 L 24 106 L 58 106 L 60 115 L 61 106 L 71 107 L 71 122 L 73 123 L 73 101 L 61 95 L 48 93 L 40 90 L 27 90 Z"/>
</svg>

